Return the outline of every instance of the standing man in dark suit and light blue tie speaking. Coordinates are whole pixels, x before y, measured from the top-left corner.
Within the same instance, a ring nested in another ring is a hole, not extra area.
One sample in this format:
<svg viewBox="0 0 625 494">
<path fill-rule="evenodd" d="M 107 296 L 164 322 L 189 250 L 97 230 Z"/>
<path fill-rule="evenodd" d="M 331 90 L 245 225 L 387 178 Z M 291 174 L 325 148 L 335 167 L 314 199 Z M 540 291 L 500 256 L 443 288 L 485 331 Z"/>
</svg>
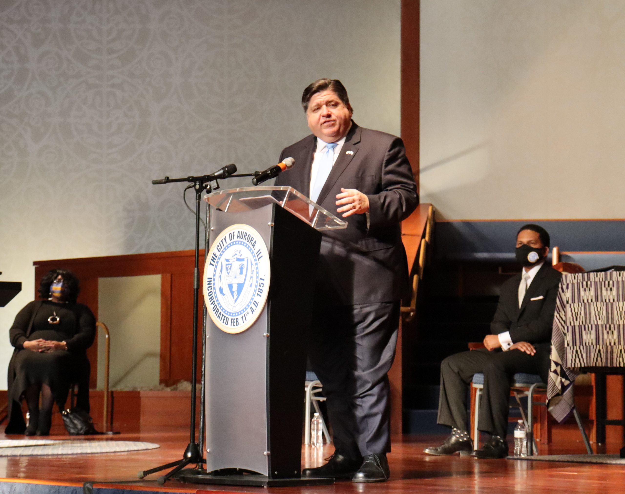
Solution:
<svg viewBox="0 0 625 494">
<path fill-rule="evenodd" d="M 419 197 L 401 139 L 356 125 L 341 81 L 314 81 L 302 106 L 312 135 L 282 151 L 280 160 L 293 157 L 296 165 L 276 185 L 347 220 L 344 230 L 322 232 L 309 345 L 336 450 L 302 476 L 384 481 L 391 450 L 386 374 L 408 287 L 400 222 Z"/>
</svg>

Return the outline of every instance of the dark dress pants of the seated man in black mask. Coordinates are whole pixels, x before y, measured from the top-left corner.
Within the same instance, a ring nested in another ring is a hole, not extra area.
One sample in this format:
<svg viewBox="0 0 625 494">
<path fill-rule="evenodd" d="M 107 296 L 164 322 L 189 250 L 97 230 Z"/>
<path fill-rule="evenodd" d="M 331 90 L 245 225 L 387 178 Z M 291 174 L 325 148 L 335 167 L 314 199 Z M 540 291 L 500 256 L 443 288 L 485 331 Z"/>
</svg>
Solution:
<svg viewBox="0 0 625 494">
<path fill-rule="evenodd" d="M 533 356 L 520 350 L 489 352 L 479 349 L 444 359 L 437 423 L 469 430 L 467 389 L 473 374 L 482 373 L 484 389 L 478 412 L 479 430 L 505 438 L 512 376 L 516 373 L 539 374 L 543 382 L 547 382 L 551 345 L 537 344 L 534 347 L 536 354 Z"/>
</svg>

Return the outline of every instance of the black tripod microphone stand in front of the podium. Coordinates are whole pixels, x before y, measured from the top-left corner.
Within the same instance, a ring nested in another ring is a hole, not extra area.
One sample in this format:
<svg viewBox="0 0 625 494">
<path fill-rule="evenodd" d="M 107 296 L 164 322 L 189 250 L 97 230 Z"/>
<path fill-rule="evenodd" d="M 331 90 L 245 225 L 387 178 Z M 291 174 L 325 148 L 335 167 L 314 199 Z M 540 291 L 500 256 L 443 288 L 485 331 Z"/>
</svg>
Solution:
<svg viewBox="0 0 625 494">
<path fill-rule="evenodd" d="M 232 176 L 232 175 L 231 175 Z M 221 177 L 227 178 L 227 177 Z M 210 182 L 215 182 L 215 187 L 211 187 Z M 181 460 L 172 461 L 171 463 L 166 463 L 165 465 L 157 466 L 156 468 L 151 468 L 150 470 L 139 471 L 137 474 L 138 478 L 144 478 L 148 475 L 156 473 L 161 470 L 166 470 L 168 468 L 173 468 L 173 470 L 169 471 L 165 475 L 158 478 L 159 485 L 163 485 L 166 481 L 169 480 L 173 475 L 176 475 L 180 470 L 182 470 L 185 466 L 189 464 L 196 465 L 196 468 L 201 468 L 203 463 L 206 463 L 206 460 L 202 457 L 202 449 L 199 444 L 196 442 L 196 380 L 197 380 L 197 309 L 199 307 L 199 212 L 200 212 L 200 201 L 202 192 L 206 190 L 207 193 L 211 193 L 213 189 L 219 188 L 219 182 L 214 178 L 213 175 L 202 175 L 201 177 L 186 177 L 186 178 L 169 178 L 165 177 L 162 180 L 153 180 L 152 183 L 173 183 L 173 182 L 191 182 L 193 184 L 193 188 L 196 192 L 196 225 L 195 225 L 195 267 L 193 270 L 193 345 L 192 345 L 192 356 L 191 356 L 191 427 L 189 428 L 189 444 L 184 450 L 183 458 Z M 207 216 L 208 218 L 208 216 Z M 206 224 L 208 228 L 208 224 Z M 206 237 L 205 237 L 206 240 Z M 206 244 L 206 241 L 205 241 Z M 206 252 L 204 252 L 206 257 Z M 206 310 L 206 308 L 204 309 Z M 206 312 L 204 312 L 206 314 Z M 204 315 L 204 323 L 206 322 L 206 315 Z M 205 344 L 206 342 L 202 342 Z M 204 362 L 204 355 L 202 354 L 202 363 Z M 202 368 L 202 387 L 203 387 L 203 376 L 204 369 Z M 203 397 L 204 393 L 201 392 Z M 204 406 L 201 406 L 203 411 Z M 202 418 L 200 418 L 201 420 Z M 204 441 L 201 440 L 202 446 Z"/>
</svg>

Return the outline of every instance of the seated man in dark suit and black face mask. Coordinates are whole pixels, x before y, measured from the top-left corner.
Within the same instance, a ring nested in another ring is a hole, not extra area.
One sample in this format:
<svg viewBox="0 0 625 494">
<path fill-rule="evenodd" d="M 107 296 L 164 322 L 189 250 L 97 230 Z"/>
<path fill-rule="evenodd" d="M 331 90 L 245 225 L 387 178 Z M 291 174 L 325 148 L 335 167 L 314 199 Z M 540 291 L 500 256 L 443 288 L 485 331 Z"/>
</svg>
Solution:
<svg viewBox="0 0 625 494">
<path fill-rule="evenodd" d="M 539 225 L 524 225 L 516 237 L 516 259 L 522 272 L 501 287 L 491 333 L 485 349 L 447 357 L 441 363 L 441 394 L 437 423 L 451 427 L 441 446 L 426 448 L 429 455 L 472 451 L 467 431 L 467 388 L 473 374 L 484 374 L 484 399 L 479 409 L 479 430 L 491 434 L 472 453 L 477 458 L 505 458 L 510 380 L 515 373 L 549 374 L 551 327 L 561 273 L 545 262 L 549 234 Z"/>
</svg>

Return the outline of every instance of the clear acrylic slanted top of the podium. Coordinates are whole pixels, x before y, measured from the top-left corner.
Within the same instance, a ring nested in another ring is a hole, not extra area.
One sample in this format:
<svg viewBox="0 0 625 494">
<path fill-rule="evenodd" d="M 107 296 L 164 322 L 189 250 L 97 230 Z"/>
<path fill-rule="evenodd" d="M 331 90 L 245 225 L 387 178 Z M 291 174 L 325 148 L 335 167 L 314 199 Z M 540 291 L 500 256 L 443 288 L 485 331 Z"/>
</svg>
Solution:
<svg viewBox="0 0 625 494">
<path fill-rule="evenodd" d="M 278 204 L 316 230 L 341 230 L 347 222 L 312 202 L 292 187 L 240 187 L 205 195 L 212 207 L 226 213 L 242 213 L 267 204 Z"/>
</svg>

